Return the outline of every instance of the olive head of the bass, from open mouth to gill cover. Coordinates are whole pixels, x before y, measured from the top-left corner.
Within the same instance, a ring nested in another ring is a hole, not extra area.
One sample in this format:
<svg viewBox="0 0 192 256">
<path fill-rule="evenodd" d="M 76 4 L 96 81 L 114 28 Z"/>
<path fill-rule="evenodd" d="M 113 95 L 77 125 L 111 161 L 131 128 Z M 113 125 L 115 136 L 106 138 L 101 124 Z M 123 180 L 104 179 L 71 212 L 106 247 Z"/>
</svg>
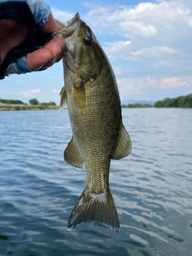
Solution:
<svg viewBox="0 0 192 256">
<path fill-rule="evenodd" d="M 102 70 L 102 48 L 93 31 L 80 19 L 79 13 L 55 35 L 65 40 L 63 61 L 66 66 L 81 79 L 93 81 L 97 78 Z"/>
</svg>

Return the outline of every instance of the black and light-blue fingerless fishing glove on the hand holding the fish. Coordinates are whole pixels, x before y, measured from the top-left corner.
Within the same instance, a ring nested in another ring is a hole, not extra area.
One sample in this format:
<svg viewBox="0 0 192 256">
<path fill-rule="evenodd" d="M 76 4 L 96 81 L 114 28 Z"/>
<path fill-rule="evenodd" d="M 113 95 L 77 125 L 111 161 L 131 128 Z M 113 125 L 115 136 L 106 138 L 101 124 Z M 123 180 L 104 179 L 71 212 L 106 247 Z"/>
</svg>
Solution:
<svg viewBox="0 0 192 256">
<path fill-rule="evenodd" d="M 20 26 L 29 27 L 28 35 L 22 45 L 12 48 L 0 69 L 0 80 L 10 74 L 26 74 L 33 71 L 27 66 L 26 55 L 46 44 L 49 33 L 39 30 L 46 23 L 50 15 L 50 7 L 41 0 L 0 0 L 0 20 L 13 19 Z"/>
</svg>

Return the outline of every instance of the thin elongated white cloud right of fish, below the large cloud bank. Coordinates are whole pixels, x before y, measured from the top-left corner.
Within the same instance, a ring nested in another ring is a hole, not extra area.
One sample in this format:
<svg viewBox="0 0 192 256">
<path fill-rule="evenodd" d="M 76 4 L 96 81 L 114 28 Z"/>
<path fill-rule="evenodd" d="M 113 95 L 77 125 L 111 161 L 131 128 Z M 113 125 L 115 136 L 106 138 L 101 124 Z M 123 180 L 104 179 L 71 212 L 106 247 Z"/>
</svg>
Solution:
<svg viewBox="0 0 192 256">
<path fill-rule="evenodd" d="M 175 53 L 176 50 L 169 47 L 153 47 L 153 48 L 143 48 L 137 52 L 130 52 L 134 56 L 157 56 L 161 57 L 162 53 Z"/>
</svg>

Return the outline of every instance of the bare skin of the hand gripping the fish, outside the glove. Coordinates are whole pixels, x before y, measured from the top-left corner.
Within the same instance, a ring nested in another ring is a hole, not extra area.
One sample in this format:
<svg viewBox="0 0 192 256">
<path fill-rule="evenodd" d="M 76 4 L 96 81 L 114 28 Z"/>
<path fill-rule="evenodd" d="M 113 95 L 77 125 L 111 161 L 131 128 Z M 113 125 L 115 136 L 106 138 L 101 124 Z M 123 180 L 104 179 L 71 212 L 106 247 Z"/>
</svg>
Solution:
<svg viewBox="0 0 192 256">
<path fill-rule="evenodd" d="M 40 30 L 46 33 L 56 32 L 64 27 L 63 23 L 53 18 L 52 12 L 46 24 Z M 28 26 L 19 26 L 14 20 L 0 20 L 0 68 L 7 53 L 23 42 L 28 33 Z M 63 57 L 65 42 L 62 38 L 48 38 L 44 48 L 28 53 L 26 60 L 29 69 L 38 70 L 51 67 Z"/>
</svg>

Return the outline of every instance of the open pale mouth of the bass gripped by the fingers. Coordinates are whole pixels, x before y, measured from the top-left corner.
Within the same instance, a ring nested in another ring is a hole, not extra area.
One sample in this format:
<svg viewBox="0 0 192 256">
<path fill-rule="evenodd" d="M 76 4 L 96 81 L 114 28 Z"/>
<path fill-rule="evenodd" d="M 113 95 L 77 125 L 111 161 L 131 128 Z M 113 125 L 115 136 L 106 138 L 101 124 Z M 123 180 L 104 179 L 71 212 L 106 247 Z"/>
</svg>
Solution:
<svg viewBox="0 0 192 256">
<path fill-rule="evenodd" d="M 63 23 L 65 25 L 65 27 L 63 29 L 61 29 L 57 32 L 54 32 L 51 35 L 54 38 L 62 37 L 65 39 L 66 42 L 68 42 L 69 40 L 72 40 L 75 37 L 76 33 L 74 33 L 74 32 L 78 30 L 80 23 L 81 23 L 80 15 L 77 12 L 72 19 Z"/>
</svg>

